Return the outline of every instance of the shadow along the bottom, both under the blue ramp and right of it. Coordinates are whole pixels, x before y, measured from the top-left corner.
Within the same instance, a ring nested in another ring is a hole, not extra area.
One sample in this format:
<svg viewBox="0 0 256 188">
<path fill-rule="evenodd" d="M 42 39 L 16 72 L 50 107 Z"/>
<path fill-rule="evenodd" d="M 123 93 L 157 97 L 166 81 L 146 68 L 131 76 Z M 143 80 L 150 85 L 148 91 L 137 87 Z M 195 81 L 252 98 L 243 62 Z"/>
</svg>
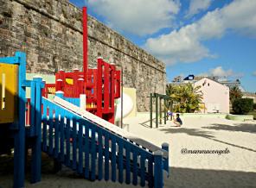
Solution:
<svg viewBox="0 0 256 188">
<path fill-rule="evenodd" d="M 0 187 L 12 187 L 12 169 L 10 168 L 13 158 L 0 157 L 0 164 L 4 163 L 5 166 L 0 166 Z M 7 168 L 5 168 L 7 167 Z M 27 166 L 29 168 L 30 166 Z M 9 170 L 8 170 L 9 169 Z M 7 172 L 6 172 L 7 170 Z M 221 187 L 255 187 L 256 173 L 255 172 L 234 172 L 234 171 L 221 171 L 221 170 L 204 170 L 192 169 L 182 167 L 170 167 L 170 178 L 166 177 L 164 173 L 164 187 L 192 187 L 192 188 L 221 188 Z M 2 180 L 2 181 L 1 181 Z M 139 183 L 139 179 L 138 179 Z M 125 185 L 116 183 L 99 184 L 98 181 L 90 182 L 81 178 L 68 168 L 63 168 L 61 172 L 53 172 L 53 160 L 46 154 L 42 154 L 42 182 L 35 185 L 29 184 L 29 177 L 26 178 L 27 187 L 36 188 L 54 188 L 54 187 L 76 187 L 82 188 L 86 185 L 89 187 L 134 187 L 133 185 Z"/>
</svg>

